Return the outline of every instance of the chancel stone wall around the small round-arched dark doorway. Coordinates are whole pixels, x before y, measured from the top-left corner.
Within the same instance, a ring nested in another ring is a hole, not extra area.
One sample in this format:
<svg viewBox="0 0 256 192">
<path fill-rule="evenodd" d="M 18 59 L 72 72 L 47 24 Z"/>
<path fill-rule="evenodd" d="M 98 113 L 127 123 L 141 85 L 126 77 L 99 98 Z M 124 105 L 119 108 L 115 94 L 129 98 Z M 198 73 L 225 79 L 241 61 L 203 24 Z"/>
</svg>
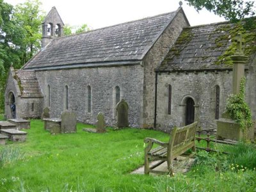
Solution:
<svg viewBox="0 0 256 192">
<path fill-rule="evenodd" d="M 232 93 L 230 72 L 161 73 L 157 77 L 157 129 L 170 131 L 185 124 L 186 99 L 195 102 L 195 120 L 203 129 L 216 128 L 216 85 L 220 86 L 220 112 L 225 110 L 227 95 Z M 172 86 L 171 115 L 168 115 L 168 85 Z"/>
</svg>

